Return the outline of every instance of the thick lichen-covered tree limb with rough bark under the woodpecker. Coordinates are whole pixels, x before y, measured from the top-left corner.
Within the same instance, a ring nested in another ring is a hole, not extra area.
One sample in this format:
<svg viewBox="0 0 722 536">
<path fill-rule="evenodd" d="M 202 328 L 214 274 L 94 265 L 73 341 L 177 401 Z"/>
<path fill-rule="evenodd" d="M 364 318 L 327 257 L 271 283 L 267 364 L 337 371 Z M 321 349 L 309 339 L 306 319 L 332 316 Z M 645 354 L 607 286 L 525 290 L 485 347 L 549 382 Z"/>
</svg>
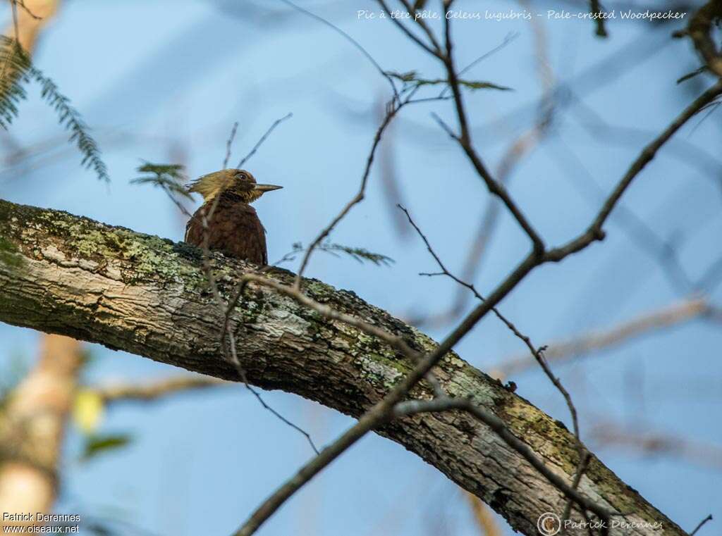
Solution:
<svg viewBox="0 0 722 536">
<path fill-rule="evenodd" d="M 215 255 L 224 296 L 252 269 Z M 292 281 L 292 274 L 269 277 Z M 404 336 L 418 350 L 434 341 L 352 291 L 305 279 L 303 290 L 350 315 Z M 60 211 L 0 201 L 0 320 L 101 343 L 163 363 L 238 379 L 222 357 L 222 317 L 201 269 L 201 251 Z M 233 313 L 238 358 L 248 379 L 359 416 L 411 369 L 386 344 L 326 320 L 287 296 L 251 284 Z M 435 374 L 449 395 L 471 397 L 503 419 L 556 473 L 571 481 L 572 434 L 528 401 L 448 353 Z M 421 385 L 413 397 L 430 397 Z M 397 441 L 481 498 L 526 535 L 540 514 L 562 514 L 559 491 L 486 426 L 465 413 L 394 421 L 379 434 Z M 580 491 L 627 516 L 612 535 L 682 535 L 674 522 L 617 478 L 596 457 Z M 653 527 L 657 524 L 657 528 Z M 661 525 L 661 527 L 660 527 Z M 586 533 L 586 531 L 583 531 Z"/>
</svg>

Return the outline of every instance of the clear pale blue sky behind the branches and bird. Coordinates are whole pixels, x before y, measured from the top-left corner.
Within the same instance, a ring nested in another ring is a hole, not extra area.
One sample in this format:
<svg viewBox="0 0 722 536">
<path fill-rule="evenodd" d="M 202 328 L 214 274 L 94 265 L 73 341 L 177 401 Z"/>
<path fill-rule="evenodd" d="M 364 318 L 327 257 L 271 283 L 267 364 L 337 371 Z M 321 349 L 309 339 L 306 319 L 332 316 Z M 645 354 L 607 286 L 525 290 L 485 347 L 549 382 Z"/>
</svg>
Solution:
<svg viewBox="0 0 722 536">
<path fill-rule="evenodd" d="M 470 1 L 458 4 L 474 10 Z M 388 20 L 359 20 L 358 6 L 351 2 L 303 6 L 352 35 L 383 69 L 440 76 L 439 66 Z M 531 11 L 542 13 L 549 7 L 534 6 L 538 9 Z M 521 8 L 496 1 L 488 9 Z M 588 225 L 599 206 L 596 188 L 611 190 L 643 145 L 710 79 L 675 83 L 698 65 L 690 43 L 669 38 L 677 26 L 614 19 L 611 37 L 599 40 L 589 22 L 543 17 L 539 22 L 551 69 L 569 92 L 557 103 L 548 138 L 514 172 L 510 191 L 554 245 Z M 516 37 L 468 74 L 514 89 L 466 96 L 477 148 L 492 170 L 534 120 L 541 95 L 534 33 L 523 20 L 463 21 L 454 27 L 460 64 L 510 34 Z M 292 112 L 293 118 L 247 165 L 259 181 L 284 185 L 256 207 L 268 230 L 271 259 L 282 257 L 293 242 L 313 240 L 355 194 L 379 102 L 388 97 L 386 82 L 346 40 L 271 1 L 69 2 L 43 32 L 35 62 L 94 129 L 112 182 L 99 183 L 81 170 L 77 152 L 60 143 L 27 165 L 1 169 L 0 195 L 173 240 L 181 240 L 184 225 L 175 206 L 160 191 L 129 184 L 141 160 L 182 162 L 191 176 L 202 175 L 221 167 L 235 121 L 240 126 L 231 162 L 274 120 Z M 456 288 L 442 278 L 417 276 L 435 266 L 389 208 L 393 203 L 386 198 L 381 171 L 393 170 L 399 201 L 453 271 L 461 270 L 487 203 L 484 186 L 430 117 L 432 111 L 453 124 L 448 103 L 404 110 L 382 147 L 391 155 L 386 167 L 374 168 L 364 203 L 332 236 L 335 242 L 382 252 L 396 263 L 375 268 L 319 253 L 308 268 L 309 276 L 352 289 L 402 318 L 445 310 Z M 717 112 L 693 119 L 622 203 L 659 237 L 674 240 L 682 265 L 695 277 L 722 253 L 719 117 Z M 34 90 L 11 133 L 27 146 L 64 138 Z M 701 157 L 690 146 L 703 149 L 712 163 L 700 167 L 692 162 Z M 603 329 L 685 297 L 669 283 L 658 260 L 630 238 L 629 226 L 617 214 L 606 229 L 603 243 L 532 273 L 503 302 L 503 312 L 536 344 Z M 474 279 L 477 288 L 493 289 L 527 247 L 503 214 Z M 720 290 L 709 298 L 719 303 Z M 452 327 L 424 329 L 442 338 Z M 36 333 L 0 325 L 0 338 L 7 361 L 13 355 L 35 355 Z M 640 434 L 716 445 L 716 459 L 690 460 L 643 457 L 588 439 L 601 460 L 688 530 L 710 513 L 722 519 L 716 485 L 722 429 L 714 417 L 722 410 L 721 343 L 718 323 L 695 320 L 555 369 L 578 405 L 587 439 L 595 424 L 612 421 Z M 490 369 L 523 346 L 489 317 L 456 350 L 475 366 Z M 91 351 L 97 359 L 87 370 L 89 383 L 147 382 L 178 372 L 100 346 Z M 569 423 L 563 400 L 540 372 L 513 379 L 519 394 Z M 295 395 L 264 396 L 318 444 L 332 441 L 352 423 Z M 58 509 L 119 517 L 147 531 L 139 533 L 154 535 L 231 532 L 311 454 L 302 436 L 240 387 L 179 395 L 150 406 L 118 406 L 108 412 L 103 431 L 129 432 L 134 441 L 121 452 L 83 464 L 77 461 L 79 437 L 72 433 Z M 500 524 L 511 533 L 501 519 Z M 714 526 L 706 530 L 716 533 Z M 456 486 L 378 436 L 363 439 L 261 530 L 269 536 L 477 533 Z"/>
</svg>

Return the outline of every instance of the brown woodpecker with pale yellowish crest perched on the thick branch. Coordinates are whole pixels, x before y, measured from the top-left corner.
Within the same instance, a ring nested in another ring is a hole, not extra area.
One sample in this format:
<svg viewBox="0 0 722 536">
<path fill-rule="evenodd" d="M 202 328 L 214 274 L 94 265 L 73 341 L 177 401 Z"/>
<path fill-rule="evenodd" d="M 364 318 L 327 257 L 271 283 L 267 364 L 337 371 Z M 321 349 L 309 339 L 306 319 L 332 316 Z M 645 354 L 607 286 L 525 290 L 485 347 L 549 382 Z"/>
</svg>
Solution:
<svg viewBox="0 0 722 536">
<path fill-rule="evenodd" d="M 204 215 L 209 214 L 218 198 L 208 221 L 209 250 L 249 260 L 259 266 L 267 265 L 266 229 L 250 203 L 265 192 L 279 188 L 282 186 L 256 184 L 253 175 L 243 170 L 221 170 L 193 181 L 188 191 L 203 195 L 204 203 L 188 220 L 186 242 L 204 247 Z"/>
</svg>

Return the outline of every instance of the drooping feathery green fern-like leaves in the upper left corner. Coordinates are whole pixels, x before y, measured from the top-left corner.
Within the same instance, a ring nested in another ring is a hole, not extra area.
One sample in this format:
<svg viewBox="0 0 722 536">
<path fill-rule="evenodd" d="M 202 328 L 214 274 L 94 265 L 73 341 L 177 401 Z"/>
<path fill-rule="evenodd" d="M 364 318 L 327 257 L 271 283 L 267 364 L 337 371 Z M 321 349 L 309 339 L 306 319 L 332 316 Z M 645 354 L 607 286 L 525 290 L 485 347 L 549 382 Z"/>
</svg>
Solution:
<svg viewBox="0 0 722 536">
<path fill-rule="evenodd" d="M 100 180 L 108 182 L 108 168 L 100 158 L 100 149 L 69 98 L 61 94 L 52 79 L 32 65 L 30 56 L 16 40 L 0 36 L 0 126 L 5 130 L 18 115 L 17 105 L 27 97 L 24 84 L 32 81 L 40 84 L 41 97 L 56 111 L 61 126 L 70 132 L 69 141 L 74 142 L 82 154 L 82 165 L 92 168 Z"/>
</svg>

